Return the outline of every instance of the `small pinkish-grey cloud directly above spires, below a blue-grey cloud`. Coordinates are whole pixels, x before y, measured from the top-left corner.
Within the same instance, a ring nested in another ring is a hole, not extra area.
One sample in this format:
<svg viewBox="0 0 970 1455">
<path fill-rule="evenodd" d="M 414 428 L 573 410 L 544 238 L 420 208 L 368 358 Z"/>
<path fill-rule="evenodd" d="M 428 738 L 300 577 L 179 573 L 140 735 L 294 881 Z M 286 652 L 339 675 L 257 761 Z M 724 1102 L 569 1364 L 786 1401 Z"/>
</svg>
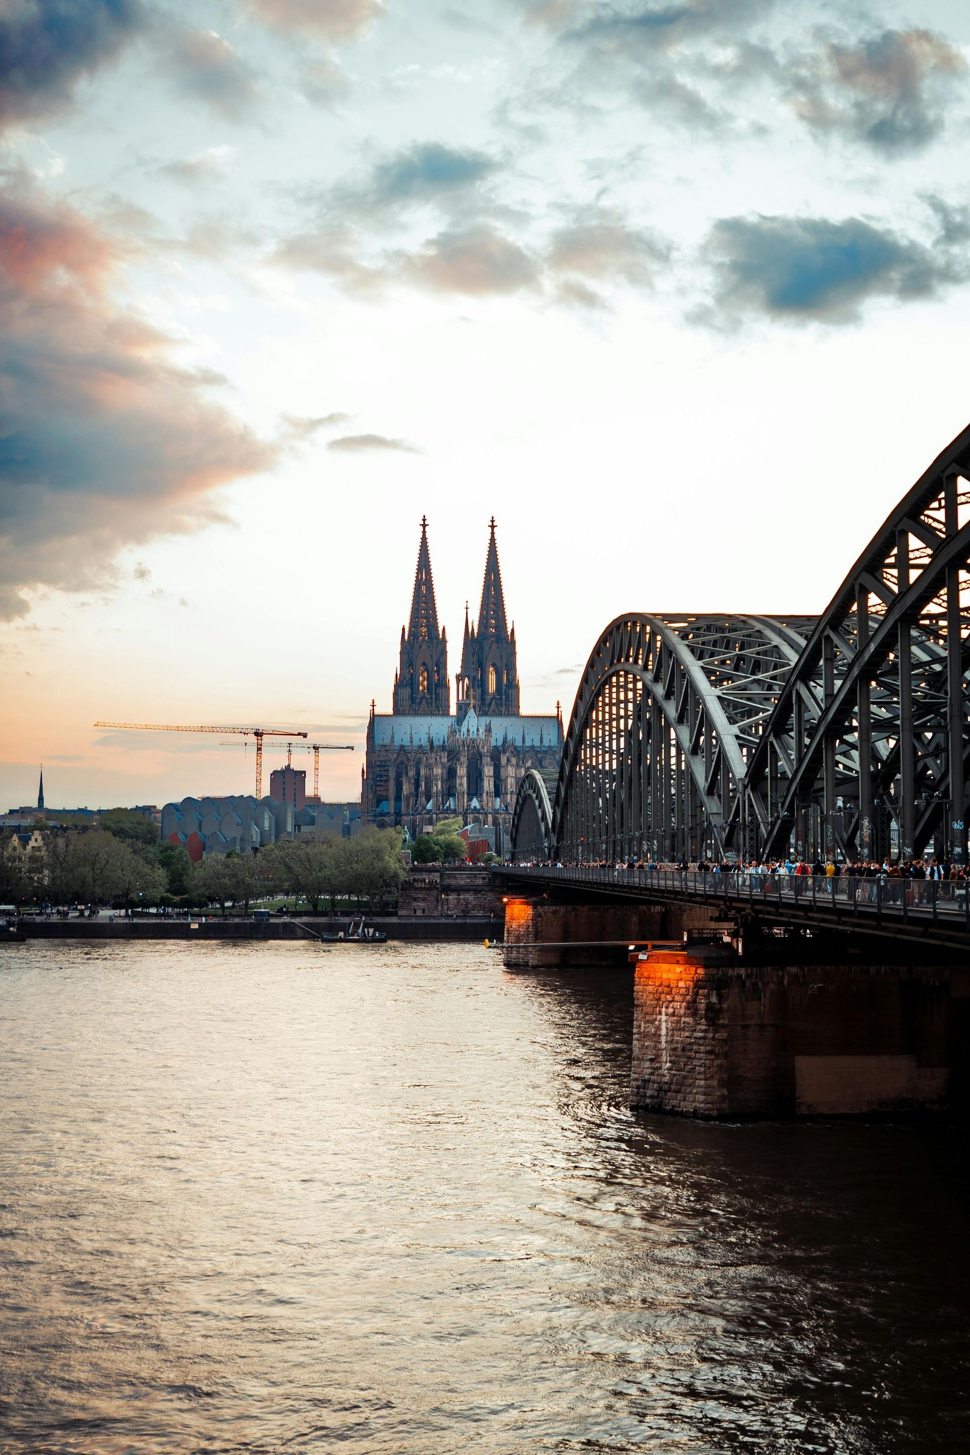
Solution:
<svg viewBox="0 0 970 1455">
<path fill-rule="evenodd" d="M 521 292 L 540 282 L 535 259 L 487 226 L 439 233 L 420 252 L 403 256 L 400 272 L 430 292 L 478 297 Z"/>
</svg>

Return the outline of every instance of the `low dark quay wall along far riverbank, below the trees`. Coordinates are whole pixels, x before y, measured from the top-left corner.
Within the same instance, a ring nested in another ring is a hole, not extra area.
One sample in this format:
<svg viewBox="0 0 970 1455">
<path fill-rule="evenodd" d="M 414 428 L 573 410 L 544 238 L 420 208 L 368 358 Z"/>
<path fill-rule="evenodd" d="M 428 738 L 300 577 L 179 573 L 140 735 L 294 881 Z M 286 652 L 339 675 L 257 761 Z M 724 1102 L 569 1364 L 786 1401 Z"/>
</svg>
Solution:
<svg viewBox="0 0 970 1455">
<path fill-rule="evenodd" d="M 502 920 L 474 917 L 452 920 L 432 915 L 375 915 L 368 925 L 388 940 L 480 943 L 500 940 Z M 17 931 L 29 940 L 304 940 L 317 934 L 346 934 L 350 917 L 291 915 L 279 920 L 19 920 Z M 3 940 L 0 940 L 3 944 Z"/>
</svg>

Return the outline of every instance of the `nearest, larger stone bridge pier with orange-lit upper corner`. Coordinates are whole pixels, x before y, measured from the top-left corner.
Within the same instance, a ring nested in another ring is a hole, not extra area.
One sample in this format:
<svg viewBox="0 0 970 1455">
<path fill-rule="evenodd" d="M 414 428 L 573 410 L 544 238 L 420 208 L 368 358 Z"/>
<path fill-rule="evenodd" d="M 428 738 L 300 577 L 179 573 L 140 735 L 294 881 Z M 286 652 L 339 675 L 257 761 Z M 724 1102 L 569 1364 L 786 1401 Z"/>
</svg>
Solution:
<svg viewBox="0 0 970 1455">
<path fill-rule="evenodd" d="M 942 1110 L 961 1096 L 964 970 L 785 959 L 730 944 L 643 954 L 631 1104 L 723 1119 L 871 1116 Z"/>
</svg>

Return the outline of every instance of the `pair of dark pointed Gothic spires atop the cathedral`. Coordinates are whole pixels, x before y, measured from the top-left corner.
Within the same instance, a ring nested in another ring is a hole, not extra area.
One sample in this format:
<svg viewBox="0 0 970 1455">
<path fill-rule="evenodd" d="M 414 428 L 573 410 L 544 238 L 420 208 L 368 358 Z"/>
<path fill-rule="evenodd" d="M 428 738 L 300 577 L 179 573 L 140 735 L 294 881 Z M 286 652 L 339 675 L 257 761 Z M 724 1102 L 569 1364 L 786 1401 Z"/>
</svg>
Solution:
<svg viewBox="0 0 970 1455">
<path fill-rule="evenodd" d="M 458 719 L 474 709 L 478 714 L 519 716 L 519 678 L 515 655 L 515 627 L 508 630 L 494 517 L 489 522 L 489 550 L 481 583 L 478 623 L 468 621 L 457 677 Z M 401 661 L 394 678 L 396 713 L 451 713 L 448 687 L 448 639 L 438 630 L 435 582 L 428 550 L 428 519 L 422 517 L 417 570 L 407 630 L 401 627 Z"/>
</svg>

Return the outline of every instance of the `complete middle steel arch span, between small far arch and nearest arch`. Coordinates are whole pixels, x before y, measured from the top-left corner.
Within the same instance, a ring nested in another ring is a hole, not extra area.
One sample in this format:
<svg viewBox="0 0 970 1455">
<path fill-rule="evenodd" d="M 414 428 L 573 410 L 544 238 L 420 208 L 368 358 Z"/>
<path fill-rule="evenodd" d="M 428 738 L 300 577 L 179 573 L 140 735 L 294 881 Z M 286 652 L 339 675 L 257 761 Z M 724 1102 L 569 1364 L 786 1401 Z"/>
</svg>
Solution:
<svg viewBox="0 0 970 1455">
<path fill-rule="evenodd" d="M 720 858 L 761 723 L 810 617 L 631 613 L 590 653 L 553 809 L 569 863 Z"/>
</svg>

